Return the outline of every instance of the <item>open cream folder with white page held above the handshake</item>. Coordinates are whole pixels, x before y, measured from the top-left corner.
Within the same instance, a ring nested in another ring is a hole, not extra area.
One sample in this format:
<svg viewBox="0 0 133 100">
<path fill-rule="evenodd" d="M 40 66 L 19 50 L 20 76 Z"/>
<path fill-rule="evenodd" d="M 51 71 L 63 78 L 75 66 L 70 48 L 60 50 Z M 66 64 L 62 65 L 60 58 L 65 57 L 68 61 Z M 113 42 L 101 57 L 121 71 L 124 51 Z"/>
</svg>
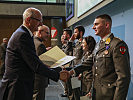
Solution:
<svg viewBox="0 0 133 100">
<path fill-rule="evenodd" d="M 39 56 L 40 60 L 50 66 L 50 68 L 56 68 L 67 64 L 76 57 L 67 56 L 58 46 L 53 47 L 49 51 Z"/>
</svg>

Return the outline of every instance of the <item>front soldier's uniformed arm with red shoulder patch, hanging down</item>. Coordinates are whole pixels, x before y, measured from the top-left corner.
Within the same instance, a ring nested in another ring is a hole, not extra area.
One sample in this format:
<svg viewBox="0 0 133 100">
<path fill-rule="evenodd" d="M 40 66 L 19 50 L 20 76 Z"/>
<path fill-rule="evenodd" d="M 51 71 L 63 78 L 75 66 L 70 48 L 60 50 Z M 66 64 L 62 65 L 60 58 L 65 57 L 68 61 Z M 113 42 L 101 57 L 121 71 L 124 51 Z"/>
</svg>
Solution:
<svg viewBox="0 0 133 100">
<path fill-rule="evenodd" d="M 118 76 L 113 100 L 125 100 L 130 83 L 130 59 L 128 47 L 123 41 L 114 48 L 113 61 Z"/>
</svg>

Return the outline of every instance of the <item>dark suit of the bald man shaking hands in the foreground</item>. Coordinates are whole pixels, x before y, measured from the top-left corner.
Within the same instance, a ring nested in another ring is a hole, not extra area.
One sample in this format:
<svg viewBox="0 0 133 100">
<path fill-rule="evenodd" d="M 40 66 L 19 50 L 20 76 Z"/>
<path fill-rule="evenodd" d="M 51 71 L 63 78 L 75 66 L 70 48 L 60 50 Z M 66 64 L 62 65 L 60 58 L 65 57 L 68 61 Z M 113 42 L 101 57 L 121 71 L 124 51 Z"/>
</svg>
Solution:
<svg viewBox="0 0 133 100">
<path fill-rule="evenodd" d="M 39 60 L 33 38 L 24 26 L 20 26 L 8 42 L 5 69 L 0 100 L 32 100 L 35 73 L 54 81 L 59 79 L 59 73 Z"/>
</svg>

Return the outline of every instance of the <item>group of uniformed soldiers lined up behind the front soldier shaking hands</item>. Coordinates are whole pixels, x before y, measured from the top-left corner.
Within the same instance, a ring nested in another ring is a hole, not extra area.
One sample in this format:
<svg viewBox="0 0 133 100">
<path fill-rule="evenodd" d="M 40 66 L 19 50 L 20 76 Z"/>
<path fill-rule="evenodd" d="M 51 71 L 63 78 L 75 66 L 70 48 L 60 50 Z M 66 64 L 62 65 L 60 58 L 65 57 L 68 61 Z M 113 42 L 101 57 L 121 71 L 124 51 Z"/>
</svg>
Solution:
<svg viewBox="0 0 133 100">
<path fill-rule="evenodd" d="M 96 45 L 96 41 L 92 36 L 83 37 L 85 29 L 83 26 L 78 25 L 72 30 L 64 29 L 61 36 L 62 50 L 70 56 L 76 58 L 70 62 L 69 67 L 74 67 L 85 61 L 93 52 Z M 90 96 L 90 88 L 92 83 L 91 71 L 84 71 L 80 73 L 78 79 L 81 80 L 81 87 L 72 88 L 71 79 L 75 76 L 71 76 L 65 83 L 64 94 L 62 97 L 68 97 L 70 100 L 80 100 L 80 96 Z M 87 78 L 89 77 L 89 78 Z"/>
</svg>

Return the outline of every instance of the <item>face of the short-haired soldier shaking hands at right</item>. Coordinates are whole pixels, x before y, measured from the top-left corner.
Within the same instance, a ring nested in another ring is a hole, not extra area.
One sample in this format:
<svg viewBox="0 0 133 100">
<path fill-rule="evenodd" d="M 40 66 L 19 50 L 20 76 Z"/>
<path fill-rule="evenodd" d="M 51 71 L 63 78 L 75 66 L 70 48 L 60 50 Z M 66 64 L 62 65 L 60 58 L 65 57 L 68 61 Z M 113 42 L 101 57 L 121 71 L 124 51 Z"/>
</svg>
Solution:
<svg viewBox="0 0 133 100">
<path fill-rule="evenodd" d="M 106 30 L 106 24 L 104 19 L 101 19 L 101 18 L 95 19 L 92 28 L 95 30 L 96 35 L 103 37 Z"/>
</svg>

